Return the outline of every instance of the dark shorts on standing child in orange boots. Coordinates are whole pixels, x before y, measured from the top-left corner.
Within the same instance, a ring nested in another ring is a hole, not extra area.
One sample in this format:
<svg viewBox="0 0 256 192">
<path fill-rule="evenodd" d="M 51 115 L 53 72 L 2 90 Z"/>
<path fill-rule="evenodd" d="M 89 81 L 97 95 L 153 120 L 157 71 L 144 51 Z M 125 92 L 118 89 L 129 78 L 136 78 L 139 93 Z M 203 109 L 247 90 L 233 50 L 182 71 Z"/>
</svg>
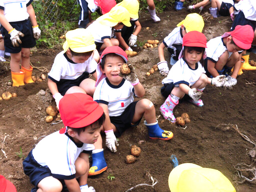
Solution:
<svg viewBox="0 0 256 192">
<path fill-rule="evenodd" d="M 1 25 L 0 30 L 4 37 L 4 48 L 5 51 L 11 54 L 17 54 L 21 51 L 21 48 L 32 48 L 36 45 L 35 38 L 33 37 L 32 25 L 29 19 L 17 22 L 9 22 L 13 28 L 24 34 L 24 37 L 20 37 L 21 44 L 19 47 L 14 47 L 11 44 L 11 35 L 8 31 Z"/>
</svg>

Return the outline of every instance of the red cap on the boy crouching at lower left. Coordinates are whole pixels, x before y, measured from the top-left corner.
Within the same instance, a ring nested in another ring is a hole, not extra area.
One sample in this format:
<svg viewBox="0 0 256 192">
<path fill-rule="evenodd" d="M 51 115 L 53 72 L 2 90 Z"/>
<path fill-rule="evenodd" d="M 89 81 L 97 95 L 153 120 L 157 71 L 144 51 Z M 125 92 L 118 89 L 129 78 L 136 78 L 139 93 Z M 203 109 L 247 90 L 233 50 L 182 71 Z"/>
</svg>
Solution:
<svg viewBox="0 0 256 192">
<path fill-rule="evenodd" d="M 94 123 L 103 114 L 103 109 L 85 93 L 64 95 L 59 101 L 59 113 L 64 126 L 80 128 Z"/>
</svg>

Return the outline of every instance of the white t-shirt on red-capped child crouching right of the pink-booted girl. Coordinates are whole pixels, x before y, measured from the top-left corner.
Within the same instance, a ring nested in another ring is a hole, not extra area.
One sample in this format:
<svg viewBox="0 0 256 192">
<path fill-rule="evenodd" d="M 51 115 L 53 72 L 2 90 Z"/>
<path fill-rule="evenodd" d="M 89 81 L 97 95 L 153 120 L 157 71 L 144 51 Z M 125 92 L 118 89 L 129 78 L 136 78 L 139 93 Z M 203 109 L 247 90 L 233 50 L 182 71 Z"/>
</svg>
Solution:
<svg viewBox="0 0 256 192">
<path fill-rule="evenodd" d="M 227 50 L 221 36 L 211 39 L 207 42 L 206 45 L 207 48 L 205 50 L 207 54 L 207 59 L 210 59 L 214 63 L 216 63 L 219 60 L 219 57 Z M 228 52 L 228 58 L 231 55 L 232 52 Z"/>
</svg>

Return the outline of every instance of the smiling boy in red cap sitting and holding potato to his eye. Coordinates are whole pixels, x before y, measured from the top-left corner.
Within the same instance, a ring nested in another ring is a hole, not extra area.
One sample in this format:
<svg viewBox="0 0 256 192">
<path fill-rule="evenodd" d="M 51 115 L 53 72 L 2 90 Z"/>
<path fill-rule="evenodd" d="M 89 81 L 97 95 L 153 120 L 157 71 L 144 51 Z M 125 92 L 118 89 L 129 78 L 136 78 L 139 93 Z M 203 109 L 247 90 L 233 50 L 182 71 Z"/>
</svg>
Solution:
<svg viewBox="0 0 256 192">
<path fill-rule="evenodd" d="M 173 138 L 171 131 L 164 131 L 159 127 L 155 107 L 150 100 L 142 99 L 134 102 L 133 96 L 143 97 L 145 89 L 139 82 L 132 65 L 129 66 L 130 74 L 120 73 L 120 67 L 127 61 L 127 54 L 120 47 L 111 46 L 102 52 L 97 66 L 98 79 L 93 99 L 106 114 L 106 121 L 103 124 L 106 146 L 113 152 L 117 151 L 116 136 L 121 136 L 129 127 L 137 126 L 143 116 L 150 138 L 161 140 Z"/>
</svg>

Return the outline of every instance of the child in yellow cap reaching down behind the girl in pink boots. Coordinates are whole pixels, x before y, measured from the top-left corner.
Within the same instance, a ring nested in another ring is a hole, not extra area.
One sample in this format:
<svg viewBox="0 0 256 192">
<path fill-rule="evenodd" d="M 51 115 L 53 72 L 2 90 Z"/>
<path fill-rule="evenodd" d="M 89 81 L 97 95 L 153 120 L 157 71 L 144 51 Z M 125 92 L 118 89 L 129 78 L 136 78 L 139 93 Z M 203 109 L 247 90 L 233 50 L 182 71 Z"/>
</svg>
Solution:
<svg viewBox="0 0 256 192">
<path fill-rule="evenodd" d="M 204 20 L 202 16 L 197 13 L 191 13 L 186 16 L 182 22 L 177 25 L 177 28 L 163 39 L 163 42 L 158 47 L 158 55 L 160 62 L 157 64 L 162 76 L 168 75 L 169 68 L 167 61 L 165 61 L 163 50 L 167 47 L 168 51 L 172 54 L 170 64 L 174 65 L 178 61 L 178 56 L 182 50 L 183 36 L 189 31 L 202 32 L 204 28 Z"/>
</svg>

